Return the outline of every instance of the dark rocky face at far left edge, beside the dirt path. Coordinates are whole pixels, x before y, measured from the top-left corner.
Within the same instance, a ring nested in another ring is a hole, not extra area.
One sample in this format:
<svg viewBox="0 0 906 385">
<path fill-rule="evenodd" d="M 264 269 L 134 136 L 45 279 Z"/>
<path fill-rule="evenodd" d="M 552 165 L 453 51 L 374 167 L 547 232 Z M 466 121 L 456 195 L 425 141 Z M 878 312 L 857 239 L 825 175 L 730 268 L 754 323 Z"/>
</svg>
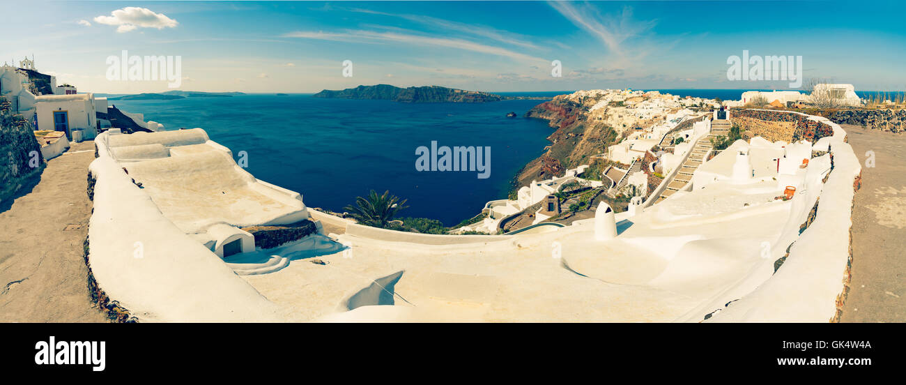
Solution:
<svg viewBox="0 0 906 385">
<path fill-rule="evenodd" d="M 40 174 L 44 159 L 34 131 L 21 116 L 10 113 L 10 103 L 0 97 L 0 202 L 23 187 L 26 179 Z"/>
</svg>

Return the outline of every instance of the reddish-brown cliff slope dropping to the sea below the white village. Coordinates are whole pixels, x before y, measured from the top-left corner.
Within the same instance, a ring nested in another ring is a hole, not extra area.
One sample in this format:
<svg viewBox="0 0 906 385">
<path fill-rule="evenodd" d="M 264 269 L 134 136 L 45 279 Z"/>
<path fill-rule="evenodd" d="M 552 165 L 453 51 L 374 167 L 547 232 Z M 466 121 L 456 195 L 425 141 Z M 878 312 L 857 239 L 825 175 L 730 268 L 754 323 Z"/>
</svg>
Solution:
<svg viewBox="0 0 906 385">
<path fill-rule="evenodd" d="M 587 105 L 570 101 L 564 95 L 538 104 L 525 116 L 549 120 L 555 130 L 547 137 L 551 146 L 519 171 L 514 187 L 525 186 L 533 179 L 562 176 L 566 168 L 590 163 L 593 155 L 603 153 L 607 146 L 618 141 L 617 131 L 592 119 Z"/>
</svg>

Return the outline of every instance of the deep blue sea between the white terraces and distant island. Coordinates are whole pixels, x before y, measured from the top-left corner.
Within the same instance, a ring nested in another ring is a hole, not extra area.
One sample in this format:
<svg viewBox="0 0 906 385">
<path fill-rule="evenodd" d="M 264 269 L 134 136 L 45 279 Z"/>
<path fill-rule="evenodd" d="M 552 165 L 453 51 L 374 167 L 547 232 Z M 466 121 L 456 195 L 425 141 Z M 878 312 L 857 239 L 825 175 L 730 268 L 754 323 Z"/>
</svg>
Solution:
<svg viewBox="0 0 906 385">
<path fill-rule="evenodd" d="M 557 92 L 532 95 L 550 96 Z M 544 152 L 546 120 L 523 118 L 544 101 L 400 103 L 313 98 L 311 94 L 246 94 L 170 101 L 110 101 L 167 130 L 200 127 L 238 159 L 248 154 L 255 178 L 298 191 L 308 207 L 342 212 L 371 189 L 408 199 L 402 217 L 447 226 L 506 197 L 509 181 Z M 514 111 L 516 118 L 506 118 Z M 415 149 L 489 146 L 490 177 L 477 171 L 417 171 Z"/>
</svg>

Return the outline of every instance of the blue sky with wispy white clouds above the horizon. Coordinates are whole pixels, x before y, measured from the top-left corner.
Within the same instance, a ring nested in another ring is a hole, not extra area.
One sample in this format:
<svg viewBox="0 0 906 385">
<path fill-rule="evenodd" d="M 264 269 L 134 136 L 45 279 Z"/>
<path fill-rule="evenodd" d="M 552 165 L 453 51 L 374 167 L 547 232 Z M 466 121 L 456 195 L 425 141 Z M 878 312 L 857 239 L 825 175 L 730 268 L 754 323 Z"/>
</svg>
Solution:
<svg viewBox="0 0 906 385">
<path fill-rule="evenodd" d="M 743 51 L 802 56 L 805 79 L 906 90 L 899 1 L 29 4 L 0 13 L 0 62 L 34 55 L 39 72 L 79 91 L 791 88 L 728 80 L 728 58 Z M 111 75 L 123 51 L 178 57 L 178 87 Z"/>
</svg>

